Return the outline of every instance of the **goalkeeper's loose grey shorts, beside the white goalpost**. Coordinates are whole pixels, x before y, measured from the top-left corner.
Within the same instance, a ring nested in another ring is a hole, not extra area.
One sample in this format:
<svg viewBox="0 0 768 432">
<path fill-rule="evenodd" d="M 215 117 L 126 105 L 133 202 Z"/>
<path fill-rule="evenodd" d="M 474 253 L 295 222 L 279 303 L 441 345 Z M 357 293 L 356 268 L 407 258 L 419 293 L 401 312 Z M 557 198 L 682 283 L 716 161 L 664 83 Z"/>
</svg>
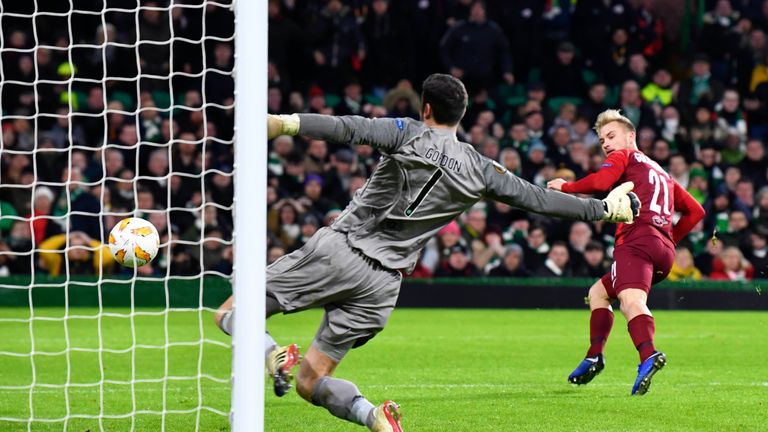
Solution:
<svg viewBox="0 0 768 432">
<path fill-rule="evenodd" d="M 322 228 L 299 250 L 267 267 L 267 295 L 284 313 L 322 306 L 323 322 L 313 344 L 340 361 L 387 323 L 400 292 L 400 272 L 383 267 Z"/>
</svg>

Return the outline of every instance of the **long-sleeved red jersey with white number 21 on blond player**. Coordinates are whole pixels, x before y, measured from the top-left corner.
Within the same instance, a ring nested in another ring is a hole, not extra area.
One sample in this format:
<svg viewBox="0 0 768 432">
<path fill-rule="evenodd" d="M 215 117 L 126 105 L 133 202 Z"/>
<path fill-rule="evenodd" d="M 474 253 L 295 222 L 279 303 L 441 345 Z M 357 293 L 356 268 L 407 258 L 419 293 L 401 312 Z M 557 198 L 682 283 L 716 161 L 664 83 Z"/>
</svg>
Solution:
<svg viewBox="0 0 768 432">
<path fill-rule="evenodd" d="M 639 150 L 616 150 L 600 171 L 577 181 L 563 184 L 570 193 L 607 192 L 614 186 L 631 181 L 633 192 L 642 203 L 640 215 L 633 224 L 620 223 L 616 245 L 642 236 L 656 236 L 677 243 L 704 217 L 704 209 L 658 163 Z M 677 225 L 675 212 L 682 213 Z"/>
</svg>

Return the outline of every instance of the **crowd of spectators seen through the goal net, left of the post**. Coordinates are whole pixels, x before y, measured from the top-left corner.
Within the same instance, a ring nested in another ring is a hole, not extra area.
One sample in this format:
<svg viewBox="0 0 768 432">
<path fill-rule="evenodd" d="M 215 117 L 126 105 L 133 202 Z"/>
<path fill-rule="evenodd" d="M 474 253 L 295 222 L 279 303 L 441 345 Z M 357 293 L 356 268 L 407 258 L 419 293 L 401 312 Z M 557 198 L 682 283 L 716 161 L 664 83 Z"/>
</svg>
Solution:
<svg viewBox="0 0 768 432">
<path fill-rule="evenodd" d="M 4 6 L 0 276 L 132 274 L 103 246 L 128 216 L 171 242 L 140 276 L 231 273 L 234 18 L 181 3 Z"/>
</svg>

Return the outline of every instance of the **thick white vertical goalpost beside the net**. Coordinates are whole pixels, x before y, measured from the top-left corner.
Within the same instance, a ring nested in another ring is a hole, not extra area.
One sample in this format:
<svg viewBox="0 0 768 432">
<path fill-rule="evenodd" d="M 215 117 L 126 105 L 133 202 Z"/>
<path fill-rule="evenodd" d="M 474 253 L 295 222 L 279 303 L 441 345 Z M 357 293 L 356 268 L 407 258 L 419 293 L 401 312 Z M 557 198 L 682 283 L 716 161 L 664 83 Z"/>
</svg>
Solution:
<svg viewBox="0 0 768 432">
<path fill-rule="evenodd" d="M 267 115 L 267 2 L 236 5 L 235 218 L 248 223 L 237 231 L 244 241 L 235 242 L 234 292 L 237 309 L 249 313 L 235 314 L 232 412 L 233 430 L 245 432 L 264 430 L 267 160 L 259 143 L 267 136 L 266 121 L 260 121 Z"/>
</svg>

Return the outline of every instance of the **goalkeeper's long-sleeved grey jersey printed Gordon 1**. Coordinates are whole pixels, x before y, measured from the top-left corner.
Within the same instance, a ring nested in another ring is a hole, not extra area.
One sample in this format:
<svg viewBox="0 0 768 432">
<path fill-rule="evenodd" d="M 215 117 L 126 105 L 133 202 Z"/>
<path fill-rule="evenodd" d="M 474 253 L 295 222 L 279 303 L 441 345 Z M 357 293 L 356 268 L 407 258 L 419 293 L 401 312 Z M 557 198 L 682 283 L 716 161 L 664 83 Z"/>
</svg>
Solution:
<svg viewBox="0 0 768 432">
<path fill-rule="evenodd" d="M 371 177 L 331 226 L 390 269 L 412 271 L 427 241 L 490 198 L 551 216 L 599 220 L 599 200 L 535 186 L 460 142 L 452 130 L 401 118 L 300 114 L 300 135 L 369 144 L 382 153 Z"/>
</svg>

